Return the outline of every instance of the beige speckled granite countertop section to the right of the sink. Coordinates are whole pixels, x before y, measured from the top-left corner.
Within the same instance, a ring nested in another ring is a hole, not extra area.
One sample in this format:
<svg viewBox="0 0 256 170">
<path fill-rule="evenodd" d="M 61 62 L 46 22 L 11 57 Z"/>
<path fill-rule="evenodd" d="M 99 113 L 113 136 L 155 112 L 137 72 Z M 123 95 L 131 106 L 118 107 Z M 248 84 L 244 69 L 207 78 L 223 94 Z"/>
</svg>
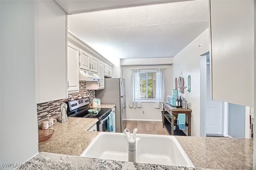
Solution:
<svg viewBox="0 0 256 170">
<path fill-rule="evenodd" d="M 196 167 L 228 170 L 252 169 L 252 139 L 175 137 Z"/>
</svg>

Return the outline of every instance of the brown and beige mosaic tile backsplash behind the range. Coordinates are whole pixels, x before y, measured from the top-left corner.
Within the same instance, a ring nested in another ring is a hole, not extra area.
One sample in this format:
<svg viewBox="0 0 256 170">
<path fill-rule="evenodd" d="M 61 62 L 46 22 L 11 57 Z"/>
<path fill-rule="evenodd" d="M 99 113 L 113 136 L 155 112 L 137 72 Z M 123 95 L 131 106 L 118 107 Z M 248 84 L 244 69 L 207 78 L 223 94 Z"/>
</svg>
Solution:
<svg viewBox="0 0 256 170">
<path fill-rule="evenodd" d="M 69 93 L 68 98 L 77 99 L 80 96 L 89 96 L 90 101 L 96 97 L 95 90 L 86 90 L 86 82 L 79 83 L 79 92 L 77 93 Z M 61 117 L 60 105 L 64 102 L 68 101 L 67 98 L 55 100 L 55 101 L 48 101 L 44 103 L 37 104 L 37 120 L 38 124 L 44 120 L 49 118 L 58 118 Z"/>
</svg>

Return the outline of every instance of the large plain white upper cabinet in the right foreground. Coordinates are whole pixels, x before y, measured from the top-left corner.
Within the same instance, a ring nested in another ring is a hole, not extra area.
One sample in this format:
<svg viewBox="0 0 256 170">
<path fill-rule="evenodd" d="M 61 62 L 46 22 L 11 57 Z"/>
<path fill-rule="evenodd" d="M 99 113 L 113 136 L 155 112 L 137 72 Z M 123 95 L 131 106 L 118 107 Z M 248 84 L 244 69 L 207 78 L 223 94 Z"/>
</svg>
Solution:
<svg viewBox="0 0 256 170">
<path fill-rule="evenodd" d="M 253 107 L 253 0 L 210 0 L 210 38 L 212 99 Z"/>
</svg>

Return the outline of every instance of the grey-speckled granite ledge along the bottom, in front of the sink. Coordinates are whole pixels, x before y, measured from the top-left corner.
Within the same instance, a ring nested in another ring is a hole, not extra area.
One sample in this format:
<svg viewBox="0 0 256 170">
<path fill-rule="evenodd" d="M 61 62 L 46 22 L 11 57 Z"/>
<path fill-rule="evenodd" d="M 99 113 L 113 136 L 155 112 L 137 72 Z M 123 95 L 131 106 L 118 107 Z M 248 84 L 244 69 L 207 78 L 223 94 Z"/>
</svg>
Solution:
<svg viewBox="0 0 256 170">
<path fill-rule="evenodd" d="M 157 164 L 143 164 L 40 152 L 17 170 L 209 170 Z"/>
</svg>

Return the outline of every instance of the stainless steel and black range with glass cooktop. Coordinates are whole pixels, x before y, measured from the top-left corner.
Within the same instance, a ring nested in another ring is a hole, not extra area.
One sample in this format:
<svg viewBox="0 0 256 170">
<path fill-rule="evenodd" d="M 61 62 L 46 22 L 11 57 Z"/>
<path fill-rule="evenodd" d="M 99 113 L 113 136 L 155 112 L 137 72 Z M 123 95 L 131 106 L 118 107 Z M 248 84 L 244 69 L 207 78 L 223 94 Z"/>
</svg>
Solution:
<svg viewBox="0 0 256 170">
<path fill-rule="evenodd" d="M 110 108 L 90 108 L 89 97 L 68 101 L 67 115 L 68 117 L 84 117 L 84 118 L 97 118 L 97 131 L 108 132 L 106 128 L 108 115 L 111 112 Z M 90 113 L 88 110 L 93 109 L 94 112 Z"/>
</svg>

